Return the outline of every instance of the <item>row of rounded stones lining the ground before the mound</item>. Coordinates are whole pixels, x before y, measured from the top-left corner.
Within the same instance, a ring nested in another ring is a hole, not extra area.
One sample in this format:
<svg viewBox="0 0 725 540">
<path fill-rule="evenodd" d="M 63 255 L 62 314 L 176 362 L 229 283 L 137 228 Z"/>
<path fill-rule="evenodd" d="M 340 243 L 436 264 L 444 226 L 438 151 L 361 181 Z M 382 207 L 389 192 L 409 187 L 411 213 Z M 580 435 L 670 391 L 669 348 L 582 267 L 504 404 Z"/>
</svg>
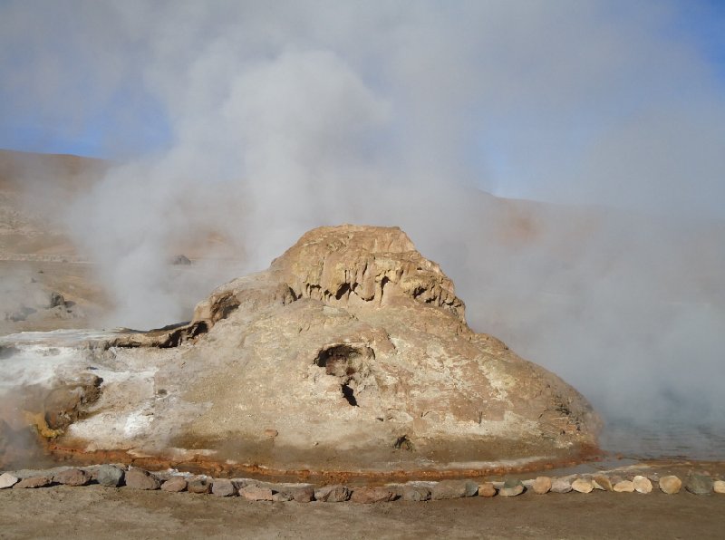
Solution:
<svg viewBox="0 0 725 540">
<path fill-rule="evenodd" d="M 692 473 L 683 482 L 673 475 L 598 473 L 565 477 L 540 476 L 527 480 L 507 478 L 505 481 L 478 483 L 476 480 L 441 480 L 440 482 L 408 482 L 381 487 L 347 487 L 341 484 L 314 486 L 302 483 L 275 484 L 251 478 L 213 478 L 176 470 L 150 472 L 123 465 L 95 465 L 83 468 L 58 467 L 43 470 L 7 471 L 0 475 L 0 489 L 22 489 L 52 486 L 89 486 L 187 492 L 212 497 L 242 497 L 248 501 L 309 503 L 381 503 L 395 500 L 428 501 L 462 497 L 516 497 L 531 491 L 547 493 L 591 493 L 594 490 L 641 494 L 658 487 L 674 495 L 682 489 L 694 495 L 725 494 L 725 481 L 708 474 Z"/>
</svg>

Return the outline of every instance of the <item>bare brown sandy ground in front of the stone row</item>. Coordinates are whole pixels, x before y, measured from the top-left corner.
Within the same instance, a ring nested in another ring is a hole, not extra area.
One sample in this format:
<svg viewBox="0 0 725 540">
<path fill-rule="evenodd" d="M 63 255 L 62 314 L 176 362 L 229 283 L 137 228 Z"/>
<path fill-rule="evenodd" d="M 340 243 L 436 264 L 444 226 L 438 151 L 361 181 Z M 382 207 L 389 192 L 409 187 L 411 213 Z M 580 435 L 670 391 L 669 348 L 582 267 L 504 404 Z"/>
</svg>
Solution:
<svg viewBox="0 0 725 540">
<path fill-rule="evenodd" d="M 59 486 L 0 491 L 0 538 L 721 538 L 724 513 L 689 493 L 356 505 Z"/>
</svg>

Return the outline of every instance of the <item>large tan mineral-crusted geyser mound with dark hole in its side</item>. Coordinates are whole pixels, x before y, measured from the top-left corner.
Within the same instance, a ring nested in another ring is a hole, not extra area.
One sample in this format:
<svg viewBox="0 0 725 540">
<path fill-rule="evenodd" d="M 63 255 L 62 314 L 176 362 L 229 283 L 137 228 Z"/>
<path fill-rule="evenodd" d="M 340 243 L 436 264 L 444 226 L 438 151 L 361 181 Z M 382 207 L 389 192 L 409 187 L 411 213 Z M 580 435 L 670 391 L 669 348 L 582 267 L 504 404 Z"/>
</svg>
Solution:
<svg viewBox="0 0 725 540">
<path fill-rule="evenodd" d="M 53 383 L 77 399 L 29 411 L 66 458 L 432 477 L 582 458 L 599 426 L 397 227 L 316 228 L 191 323 L 86 345 Z"/>
</svg>

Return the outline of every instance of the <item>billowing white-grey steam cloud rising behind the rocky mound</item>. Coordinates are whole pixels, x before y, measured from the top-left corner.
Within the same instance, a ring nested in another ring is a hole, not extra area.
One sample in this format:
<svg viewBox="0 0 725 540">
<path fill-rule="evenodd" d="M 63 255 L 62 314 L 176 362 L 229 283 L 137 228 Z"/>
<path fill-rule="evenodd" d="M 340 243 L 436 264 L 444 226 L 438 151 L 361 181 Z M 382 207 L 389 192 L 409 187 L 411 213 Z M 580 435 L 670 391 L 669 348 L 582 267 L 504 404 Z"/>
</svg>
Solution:
<svg viewBox="0 0 725 540">
<path fill-rule="evenodd" d="M 310 227 L 398 225 L 605 414 L 712 423 L 725 92 L 686 4 L 9 2 L 0 114 L 124 158 L 69 211 L 113 323 L 189 317 L 167 262 L 195 231 L 232 277 Z"/>
</svg>

